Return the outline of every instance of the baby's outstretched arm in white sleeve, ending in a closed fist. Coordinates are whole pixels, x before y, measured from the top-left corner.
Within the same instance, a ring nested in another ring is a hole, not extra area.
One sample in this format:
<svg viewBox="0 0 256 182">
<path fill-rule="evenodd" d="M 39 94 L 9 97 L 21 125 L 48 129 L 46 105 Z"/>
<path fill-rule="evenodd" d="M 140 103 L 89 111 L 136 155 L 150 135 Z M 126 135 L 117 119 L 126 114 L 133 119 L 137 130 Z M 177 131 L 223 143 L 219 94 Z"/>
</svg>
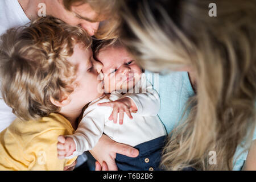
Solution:
<svg viewBox="0 0 256 182">
<path fill-rule="evenodd" d="M 105 124 L 104 111 L 96 105 L 89 106 L 84 117 L 79 123 L 79 127 L 73 135 L 59 136 L 57 143 L 58 158 L 73 158 L 83 152 L 91 150 L 100 139 Z M 109 113 L 108 113 L 109 114 Z"/>
</svg>

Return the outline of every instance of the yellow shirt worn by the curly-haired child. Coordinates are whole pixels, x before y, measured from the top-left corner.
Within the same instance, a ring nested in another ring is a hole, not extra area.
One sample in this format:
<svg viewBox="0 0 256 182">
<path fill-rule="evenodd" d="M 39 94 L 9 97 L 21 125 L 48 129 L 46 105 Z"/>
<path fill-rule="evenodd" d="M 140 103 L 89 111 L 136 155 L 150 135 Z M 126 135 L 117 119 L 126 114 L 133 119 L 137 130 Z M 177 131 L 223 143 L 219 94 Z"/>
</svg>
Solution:
<svg viewBox="0 0 256 182">
<path fill-rule="evenodd" d="M 73 159 L 57 158 L 57 137 L 73 134 L 60 114 L 38 121 L 15 121 L 0 133 L 0 170 L 63 170 Z"/>
</svg>

